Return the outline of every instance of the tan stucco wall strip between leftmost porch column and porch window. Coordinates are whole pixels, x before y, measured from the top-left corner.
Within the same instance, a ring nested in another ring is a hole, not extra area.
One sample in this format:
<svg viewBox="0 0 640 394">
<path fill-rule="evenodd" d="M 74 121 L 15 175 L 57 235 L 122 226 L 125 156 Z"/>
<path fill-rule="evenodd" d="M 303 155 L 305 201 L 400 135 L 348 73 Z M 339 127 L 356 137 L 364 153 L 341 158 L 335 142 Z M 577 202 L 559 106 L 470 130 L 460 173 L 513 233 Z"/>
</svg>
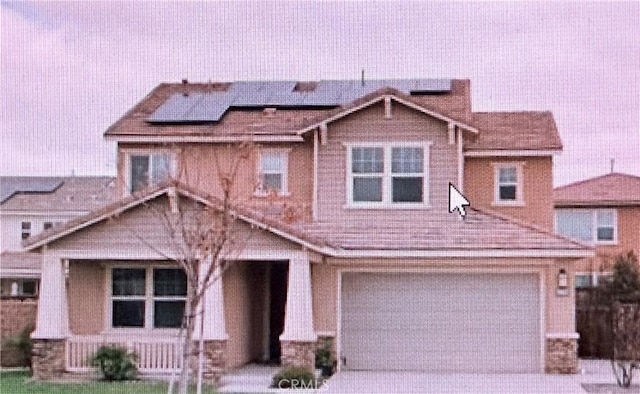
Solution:
<svg viewBox="0 0 640 394">
<path fill-rule="evenodd" d="M 71 261 L 67 302 L 73 335 L 97 335 L 105 329 L 105 268 L 97 261 Z"/>
</svg>

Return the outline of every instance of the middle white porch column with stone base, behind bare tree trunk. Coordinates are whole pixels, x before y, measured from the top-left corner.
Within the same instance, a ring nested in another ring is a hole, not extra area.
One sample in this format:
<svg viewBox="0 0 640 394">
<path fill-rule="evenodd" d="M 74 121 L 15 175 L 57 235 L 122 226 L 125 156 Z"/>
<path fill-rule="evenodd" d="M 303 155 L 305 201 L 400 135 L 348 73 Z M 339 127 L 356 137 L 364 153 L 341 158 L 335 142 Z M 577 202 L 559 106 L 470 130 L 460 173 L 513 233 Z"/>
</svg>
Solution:
<svg viewBox="0 0 640 394">
<path fill-rule="evenodd" d="M 202 262 L 202 273 L 211 266 L 210 261 Z M 203 320 L 204 319 L 204 320 Z M 196 349 L 199 348 L 200 324 L 204 321 L 202 329 L 203 339 L 203 379 L 209 384 L 218 384 L 226 367 L 227 328 L 224 318 L 224 296 L 222 291 L 222 275 L 220 268 L 216 267 L 213 274 L 213 282 L 205 291 L 204 297 L 198 307 L 194 340 Z"/>
</svg>

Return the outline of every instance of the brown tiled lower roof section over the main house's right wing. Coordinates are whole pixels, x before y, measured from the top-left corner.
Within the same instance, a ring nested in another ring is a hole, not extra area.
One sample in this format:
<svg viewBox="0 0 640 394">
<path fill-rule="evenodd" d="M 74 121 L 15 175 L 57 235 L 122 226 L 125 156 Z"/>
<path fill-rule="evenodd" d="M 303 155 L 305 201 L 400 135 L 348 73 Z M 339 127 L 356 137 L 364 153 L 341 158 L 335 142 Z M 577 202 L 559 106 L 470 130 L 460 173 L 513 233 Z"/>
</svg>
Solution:
<svg viewBox="0 0 640 394">
<path fill-rule="evenodd" d="M 560 151 L 562 141 L 558 135 L 553 114 L 541 112 L 475 112 L 473 125 L 476 136 L 465 140 L 467 156 L 481 156 L 485 151 Z"/>
</svg>

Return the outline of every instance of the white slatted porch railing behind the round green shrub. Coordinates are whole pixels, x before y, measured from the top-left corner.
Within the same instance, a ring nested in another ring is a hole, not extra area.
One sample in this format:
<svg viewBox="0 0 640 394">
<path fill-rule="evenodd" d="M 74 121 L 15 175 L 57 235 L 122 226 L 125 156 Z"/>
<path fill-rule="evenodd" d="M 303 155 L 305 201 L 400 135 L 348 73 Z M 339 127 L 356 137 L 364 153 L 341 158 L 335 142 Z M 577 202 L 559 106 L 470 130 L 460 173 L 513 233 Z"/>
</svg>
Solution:
<svg viewBox="0 0 640 394">
<path fill-rule="evenodd" d="M 103 345 L 124 347 L 137 356 L 136 366 L 140 373 L 170 373 L 182 368 L 182 344 L 178 338 L 109 338 L 102 336 L 80 336 L 67 340 L 66 362 L 69 372 L 88 372 L 91 356 Z"/>
</svg>

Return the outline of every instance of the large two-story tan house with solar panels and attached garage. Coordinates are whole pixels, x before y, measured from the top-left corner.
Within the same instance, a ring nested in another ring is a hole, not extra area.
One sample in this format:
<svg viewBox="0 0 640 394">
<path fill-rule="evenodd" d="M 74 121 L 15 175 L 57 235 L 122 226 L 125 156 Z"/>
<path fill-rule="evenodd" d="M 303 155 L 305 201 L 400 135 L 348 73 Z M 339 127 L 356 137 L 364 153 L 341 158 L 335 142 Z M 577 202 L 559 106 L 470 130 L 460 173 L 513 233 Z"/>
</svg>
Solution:
<svg viewBox="0 0 640 394">
<path fill-rule="evenodd" d="M 143 373 L 179 367 L 186 282 L 149 208 L 216 209 L 246 142 L 245 241 L 206 296 L 205 377 L 312 365 L 327 338 L 340 369 L 575 373 L 570 279 L 593 251 L 553 233 L 555 122 L 470 97 L 466 80 L 159 85 L 105 133 L 120 199 L 26 241 L 43 257 L 35 376 L 88 370 L 100 343 Z"/>
</svg>

